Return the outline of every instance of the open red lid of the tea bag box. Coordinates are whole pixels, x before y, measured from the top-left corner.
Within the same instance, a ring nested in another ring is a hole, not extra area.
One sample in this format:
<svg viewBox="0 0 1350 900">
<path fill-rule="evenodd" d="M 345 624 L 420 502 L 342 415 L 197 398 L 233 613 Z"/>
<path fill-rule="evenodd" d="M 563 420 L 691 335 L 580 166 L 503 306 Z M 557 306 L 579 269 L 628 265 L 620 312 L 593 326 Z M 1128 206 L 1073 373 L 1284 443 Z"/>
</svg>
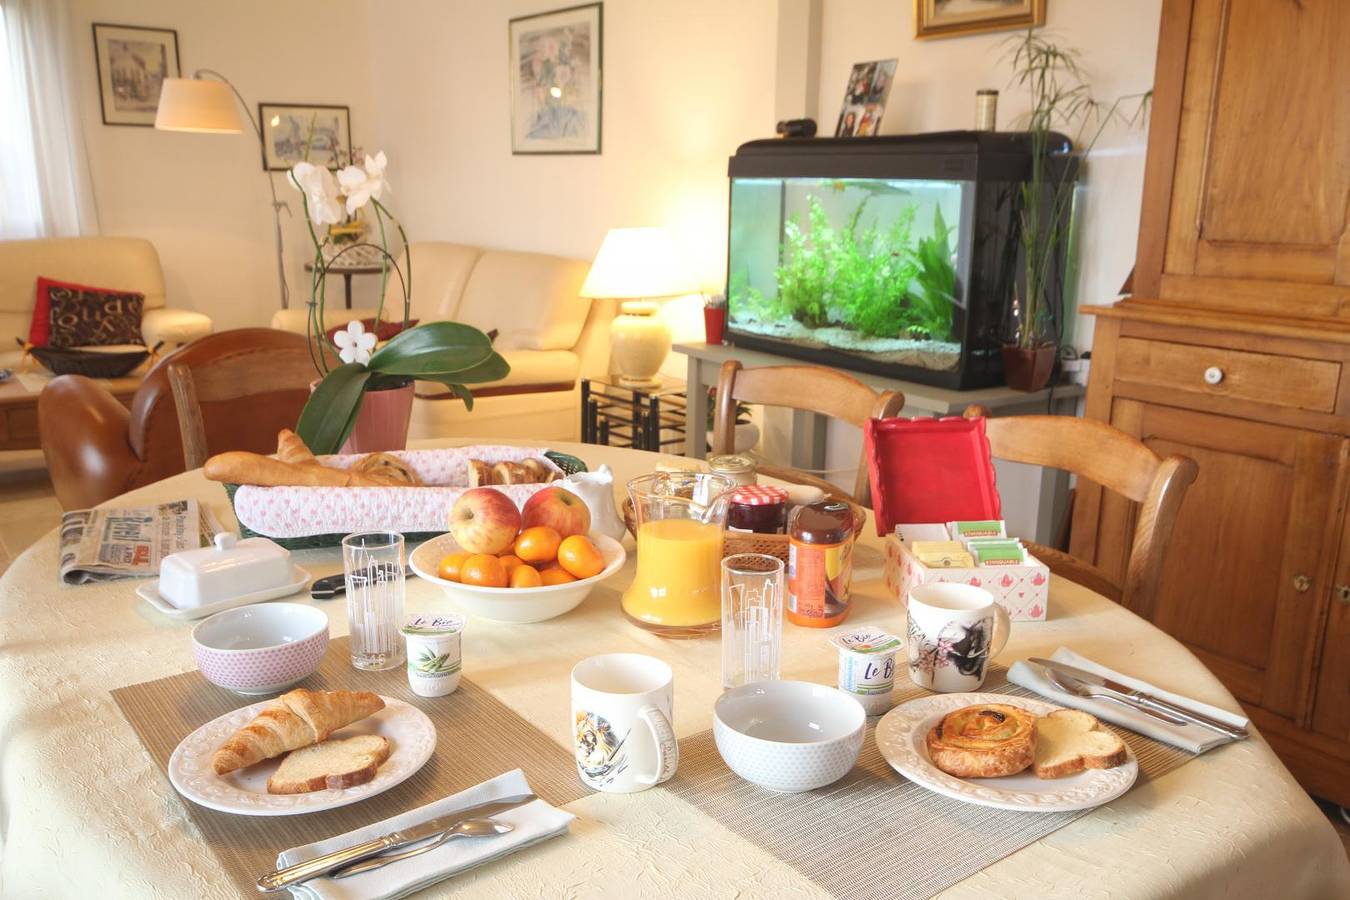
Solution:
<svg viewBox="0 0 1350 900">
<path fill-rule="evenodd" d="M 983 418 L 873 418 L 863 428 L 876 533 L 1002 518 Z"/>
</svg>

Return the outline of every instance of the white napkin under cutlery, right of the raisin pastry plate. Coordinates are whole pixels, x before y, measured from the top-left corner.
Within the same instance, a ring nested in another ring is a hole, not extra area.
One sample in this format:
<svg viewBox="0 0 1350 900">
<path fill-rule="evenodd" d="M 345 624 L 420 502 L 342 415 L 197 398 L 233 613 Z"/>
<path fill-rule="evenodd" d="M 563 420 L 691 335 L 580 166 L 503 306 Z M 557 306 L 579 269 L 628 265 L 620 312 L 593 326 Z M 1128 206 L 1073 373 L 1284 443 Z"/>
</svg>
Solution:
<svg viewBox="0 0 1350 900">
<path fill-rule="evenodd" d="M 1111 679 L 1112 681 L 1127 684 L 1137 691 L 1152 694 L 1156 698 L 1170 700 L 1172 703 L 1185 707 L 1193 712 L 1203 712 L 1204 715 L 1218 719 L 1226 725 L 1235 725 L 1238 727 L 1247 727 L 1249 725 L 1247 719 L 1241 715 L 1228 712 L 1227 710 L 1220 710 L 1219 707 L 1214 707 L 1207 703 L 1200 703 L 1199 700 L 1180 696 L 1177 694 L 1170 694 L 1149 684 L 1148 681 L 1131 679 L 1130 676 L 1108 669 L 1104 665 L 1098 665 L 1092 660 L 1079 656 L 1066 648 L 1061 646 L 1050 658 L 1056 663 L 1075 665 L 1080 669 L 1087 669 L 1088 672 Z M 1146 712 L 1135 712 L 1134 710 L 1126 708 L 1119 703 L 1112 703 L 1110 700 L 1091 700 L 1072 694 L 1065 694 L 1050 683 L 1049 677 L 1045 675 L 1045 669 L 1025 660 L 1018 660 L 1013 664 L 1013 668 L 1008 669 L 1008 681 L 1021 684 L 1022 687 L 1035 691 L 1041 696 L 1049 698 L 1062 706 L 1071 706 L 1075 710 L 1091 712 L 1099 719 L 1106 719 L 1107 722 L 1112 722 L 1120 727 L 1138 731 L 1139 734 L 1150 737 L 1154 741 L 1162 741 L 1164 743 L 1170 743 L 1172 746 L 1189 750 L 1191 753 L 1204 753 L 1211 748 L 1233 741 L 1233 738 L 1219 734 L 1218 731 L 1211 731 L 1207 727 L 1191 725 L 1189 722 L 1185 725 L 1169 725 L 1162 719 L 1156 719 Z"/>
</svg>

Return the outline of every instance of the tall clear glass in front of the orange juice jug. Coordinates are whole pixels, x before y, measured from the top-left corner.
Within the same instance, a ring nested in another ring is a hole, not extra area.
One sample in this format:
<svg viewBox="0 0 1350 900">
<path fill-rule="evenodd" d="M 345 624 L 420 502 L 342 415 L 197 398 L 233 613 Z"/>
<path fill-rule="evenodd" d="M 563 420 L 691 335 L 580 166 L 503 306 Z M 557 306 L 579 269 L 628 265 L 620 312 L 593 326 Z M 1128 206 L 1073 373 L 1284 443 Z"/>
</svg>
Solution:
<svg viewBox="0 0 1350 900">
<path fill-rule="evenodd" d="M 778 679 L 783 646 L 783 560 L 737 553 L 722 560 L 722 687 Z"/>
</svg>

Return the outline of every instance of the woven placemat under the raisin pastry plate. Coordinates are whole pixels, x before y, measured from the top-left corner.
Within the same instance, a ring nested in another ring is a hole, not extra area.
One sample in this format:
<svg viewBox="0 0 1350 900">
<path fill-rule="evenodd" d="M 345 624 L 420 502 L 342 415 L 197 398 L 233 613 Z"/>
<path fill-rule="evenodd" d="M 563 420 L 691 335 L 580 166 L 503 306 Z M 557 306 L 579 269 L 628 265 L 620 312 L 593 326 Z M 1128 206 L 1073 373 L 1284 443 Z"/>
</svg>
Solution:
<svg viewBox="0 0 1350 900">
<path fill-rule="evenodd" d="M 1015 684 L 992 687 L 1006 672 L 991 669 L 983 690 L 1034 696 Z M 896 687 L 896 703 L 926 694 L 907 688 Z M 1091 812 L 994 810 L 921 788 L 882 757 L 872 734 L 879 721 L 868 721 L 857 766 L 818 791 L 776 793 L 744 781 L 722 762 L 711 731 L 680 741 L 679 770 L 664 787 L 836 897 L 932 897 Z M 1134 750 L 1141 780 L 1192 758 L 1107 725 Z"/>
</svg>

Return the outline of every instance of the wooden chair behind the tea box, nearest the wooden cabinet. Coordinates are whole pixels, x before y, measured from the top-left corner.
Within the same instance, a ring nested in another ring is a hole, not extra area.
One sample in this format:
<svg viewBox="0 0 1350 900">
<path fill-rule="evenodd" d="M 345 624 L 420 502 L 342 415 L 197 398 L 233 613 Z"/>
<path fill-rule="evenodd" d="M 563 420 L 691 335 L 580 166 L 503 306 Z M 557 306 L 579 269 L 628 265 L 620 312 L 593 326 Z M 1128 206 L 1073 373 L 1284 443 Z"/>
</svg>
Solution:
<svg viewBox="0 0 1350 900">
<path fill-rule="evenodd" d="M 1187 456 L 1158 456 L 1143 441 L 1091 418 L 1068 416 L 1007 416 L 988 418 L 983 406 L 967 417 L 984 416 L 984 432 L 996 459 L 1048 466 L 1115 491 L 1139 505 L 1125 582 L 1062 551 L 1027 541 L 1031 555 L 1050 571 L 1092 588 L 1148 618 L 1157 599 L 1168 541 L 1177 510 L 1199 466 Z"/>
</svg>

